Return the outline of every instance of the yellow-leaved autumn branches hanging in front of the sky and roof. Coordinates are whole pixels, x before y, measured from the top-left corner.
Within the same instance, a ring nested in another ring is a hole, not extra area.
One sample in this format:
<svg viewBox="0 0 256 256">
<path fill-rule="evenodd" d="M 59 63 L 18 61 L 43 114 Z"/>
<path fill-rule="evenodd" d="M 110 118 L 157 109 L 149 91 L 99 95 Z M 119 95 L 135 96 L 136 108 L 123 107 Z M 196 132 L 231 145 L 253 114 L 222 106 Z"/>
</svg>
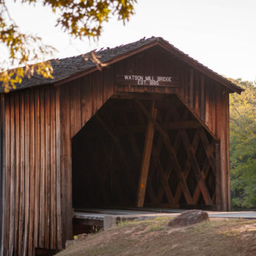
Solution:
<svg viewBox="0 0 256 256">
<path fill-rule="evenodd" d="M 14 0 L 15 1 L 15 0 Z M 17 0 L 18 1 L 18 0 Z M 22 3 L 38 4 L 39 0 L 20 0 Z M 136 0 L 42 0 L 58 15 L 56 25 L 74 36 L 98 39 L 102 25 L 109 18 L 117 17 L 123 23 L 134 14 Z M 49 61 L 43 61 L 54 52 L 52 46 L 43 44 L 39 36 L 23 34 L 11 18 L 6 0 L 0 0 L 0 43 L 8 52 L 8 59 L 0 61 L 0 83 L 8 92 L 21 83 L 24 76 L 34 72 L 45 78 L 52 77 L 53 68 Z M 29 65 L 31 62 L 38 62 Z M 4 67 L 15 66 L 11 70 Z M 23 67 L 22 67 L 23 66 Z"/>
</svg>

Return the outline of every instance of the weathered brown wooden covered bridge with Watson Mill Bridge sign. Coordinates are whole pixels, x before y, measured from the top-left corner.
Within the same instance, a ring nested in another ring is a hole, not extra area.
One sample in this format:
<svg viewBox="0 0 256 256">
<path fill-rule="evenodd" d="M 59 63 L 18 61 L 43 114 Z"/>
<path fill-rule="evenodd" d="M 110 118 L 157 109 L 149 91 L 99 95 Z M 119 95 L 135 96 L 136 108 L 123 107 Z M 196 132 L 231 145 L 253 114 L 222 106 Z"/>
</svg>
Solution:
<svg viewBox="0 0 256 256">
<path fill-rule="evenodd" d="M 1 93 L 1 255 L 61 249 L 73 208 L 230 210 L 229 93 L 161 38 L 52 60 Z M 90 55 L 88 55 L 90 58 Z"/>
</svg>

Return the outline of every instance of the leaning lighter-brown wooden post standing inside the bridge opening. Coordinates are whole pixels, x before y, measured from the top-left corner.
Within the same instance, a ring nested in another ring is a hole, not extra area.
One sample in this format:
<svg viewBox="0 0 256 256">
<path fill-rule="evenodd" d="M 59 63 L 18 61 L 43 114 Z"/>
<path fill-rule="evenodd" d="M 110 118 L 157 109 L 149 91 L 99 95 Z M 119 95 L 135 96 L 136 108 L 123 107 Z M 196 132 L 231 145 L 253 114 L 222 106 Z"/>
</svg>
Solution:
<svg viewBox="0 0 256 256">
<path fill-rule="evenodd" d="M 154 100 L 151 105 L 151 118 L 156 120 L 157 109 L 154 108 Z M 144 151 L 142 155 L 142 166 L 140 168 L 140 181 L 137 189 L 137 207 L 144 206 L 145 191 L 147 185 L 147 175 L 149 174 L 149 163 L 151 158 L 152 144 L 154 140 L 154 123 L 149 119 L 147 124 Z"/>
</svg>

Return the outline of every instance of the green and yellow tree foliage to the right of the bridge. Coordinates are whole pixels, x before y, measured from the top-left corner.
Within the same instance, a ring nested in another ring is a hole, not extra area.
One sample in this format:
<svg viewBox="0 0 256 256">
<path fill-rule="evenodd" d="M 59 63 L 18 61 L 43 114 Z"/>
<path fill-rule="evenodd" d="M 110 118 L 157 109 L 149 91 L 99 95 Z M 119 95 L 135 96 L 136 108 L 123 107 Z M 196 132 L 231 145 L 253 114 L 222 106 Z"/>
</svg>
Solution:
<svg viewBox="0 0 256 256">
<path fill-rule="evenodd" d="M 230 160 L 233 206 L 256 207 L 256 86 L 232 80 L 245 89 L 230 98 Z"/>
</svg>

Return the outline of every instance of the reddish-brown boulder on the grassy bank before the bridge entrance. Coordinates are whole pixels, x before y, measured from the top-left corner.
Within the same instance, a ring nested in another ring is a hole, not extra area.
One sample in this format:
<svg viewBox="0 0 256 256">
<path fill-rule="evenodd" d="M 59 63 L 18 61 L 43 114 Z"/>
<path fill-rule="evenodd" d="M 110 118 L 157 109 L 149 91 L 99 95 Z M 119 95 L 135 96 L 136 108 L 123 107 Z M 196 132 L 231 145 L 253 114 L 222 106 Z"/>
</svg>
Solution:
<svg viewBox="0 0 256 256">
<path fill-rule="evenodd" d="M 209 220 L 208 213 L 203 210 L 187 210 L 168 223 L 169 227 L 184 227 Z"/>
</svg>

